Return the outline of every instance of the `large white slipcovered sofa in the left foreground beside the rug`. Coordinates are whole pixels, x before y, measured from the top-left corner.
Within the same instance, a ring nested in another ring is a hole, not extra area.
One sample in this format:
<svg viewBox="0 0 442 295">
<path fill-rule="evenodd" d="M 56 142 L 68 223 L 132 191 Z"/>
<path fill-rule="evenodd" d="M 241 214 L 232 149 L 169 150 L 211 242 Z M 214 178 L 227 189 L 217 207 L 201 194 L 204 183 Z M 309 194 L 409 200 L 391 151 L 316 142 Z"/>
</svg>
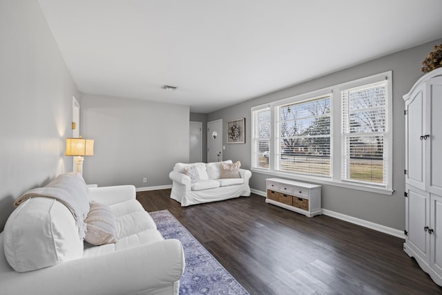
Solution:
<svg viewBox="0 0 442 295">
<path fill-rule="evenodd" d="M 0 233 L 0 294 L 178 294 L 182 245 L 164 240 L 135 199 L 135 187 L 86 189 L 90 200 L 115 214 L 117 242 L 84 243 L 64 204 L 30 198 L 12 212 Z"/>
</svg>

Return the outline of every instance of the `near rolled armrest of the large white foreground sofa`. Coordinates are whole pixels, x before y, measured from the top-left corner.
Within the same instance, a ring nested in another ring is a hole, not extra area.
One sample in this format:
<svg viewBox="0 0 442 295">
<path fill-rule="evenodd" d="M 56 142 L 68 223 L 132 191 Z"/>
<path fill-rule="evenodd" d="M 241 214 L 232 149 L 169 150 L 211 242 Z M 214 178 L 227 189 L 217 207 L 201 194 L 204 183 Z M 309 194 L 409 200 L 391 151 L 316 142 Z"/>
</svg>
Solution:
<svg viewBox="0 0 442 295">
<path fill-rule="evenodd" d="M 5 274 L 2 294 L 151 294 L 184 272 L 179 240 L 163 240 L 109 254 L 70 260 L 17 275 Z M 2 279 L 3 279 L 2 278 Z"/>
</svg>

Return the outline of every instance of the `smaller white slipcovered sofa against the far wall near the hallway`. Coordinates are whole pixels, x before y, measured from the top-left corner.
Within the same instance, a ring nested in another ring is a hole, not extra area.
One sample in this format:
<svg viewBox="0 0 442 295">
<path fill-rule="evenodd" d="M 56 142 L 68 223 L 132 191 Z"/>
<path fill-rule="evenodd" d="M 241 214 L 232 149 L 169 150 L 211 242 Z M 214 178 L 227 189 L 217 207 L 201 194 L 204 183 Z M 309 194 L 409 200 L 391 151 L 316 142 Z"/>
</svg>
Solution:
<svg viewBox="0 0 442 295">
<path fill-rule="evenodd" d="M 224 164 L 234 164 L 231 160 Z M 197 180 L 189 176 L 184 170 L 194 167 L 198 171 Z M 238 169 L 240 177 L 221 178 L 221 162 L 210 163 L 176 163 L 171 178 L 171 198 L 181 203 L 182 207 L 206 202 L 215 202 L 250 196 L 249 179 L 251 171 Z"/>
</svg>

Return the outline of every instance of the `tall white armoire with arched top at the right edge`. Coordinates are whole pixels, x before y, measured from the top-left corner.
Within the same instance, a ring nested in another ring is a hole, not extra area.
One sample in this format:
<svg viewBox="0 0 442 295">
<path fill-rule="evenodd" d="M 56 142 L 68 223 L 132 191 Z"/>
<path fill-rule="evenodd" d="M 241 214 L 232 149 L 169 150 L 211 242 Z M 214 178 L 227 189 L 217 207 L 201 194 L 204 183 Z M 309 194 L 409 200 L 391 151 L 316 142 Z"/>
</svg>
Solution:
<svg viewBox="0 0 442 295">
<path fill-rule="evenodd" d="M 404 251 L 442 285 L 442 68 L 405 99 Z"/>
</svg>

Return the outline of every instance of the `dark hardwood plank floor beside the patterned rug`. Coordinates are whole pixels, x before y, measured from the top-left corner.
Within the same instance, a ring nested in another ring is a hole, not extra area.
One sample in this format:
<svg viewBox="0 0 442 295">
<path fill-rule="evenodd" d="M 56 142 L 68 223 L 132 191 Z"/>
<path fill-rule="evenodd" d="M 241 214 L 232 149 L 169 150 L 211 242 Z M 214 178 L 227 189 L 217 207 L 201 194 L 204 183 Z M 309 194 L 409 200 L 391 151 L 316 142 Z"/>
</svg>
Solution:
<svg viewBox="0 0 442 295">
<path fill-rule="evenodd" d="M 251 194 L 180 207 L 170 189 L 137 193 L 168 209 L 250 294 L 442 294 L 404 240 L 329 216 L 307 218 Z"/>
</svg>

